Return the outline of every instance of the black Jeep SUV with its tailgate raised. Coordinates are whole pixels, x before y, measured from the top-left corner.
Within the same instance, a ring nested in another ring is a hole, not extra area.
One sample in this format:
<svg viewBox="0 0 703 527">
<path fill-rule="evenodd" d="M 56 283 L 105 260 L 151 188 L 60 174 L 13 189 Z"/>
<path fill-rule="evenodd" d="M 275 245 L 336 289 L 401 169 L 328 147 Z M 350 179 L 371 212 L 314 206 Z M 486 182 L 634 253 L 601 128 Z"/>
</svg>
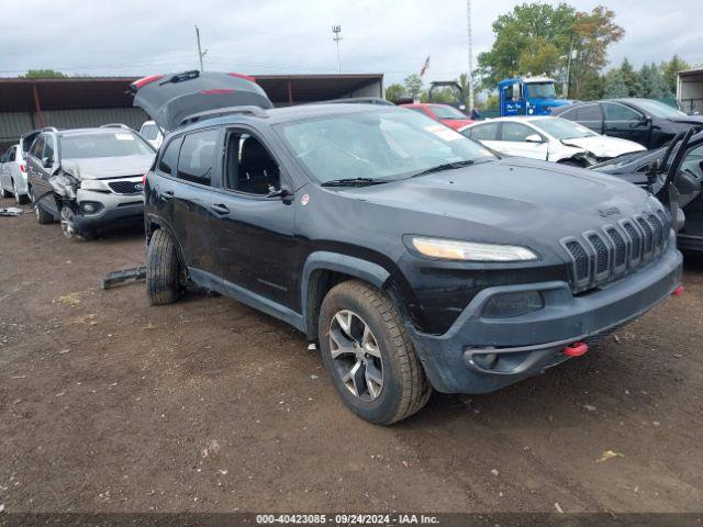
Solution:
<svg viewBox="0 0 703 527">
<path fill-rule="evenodd" d="M 145 180 L 150 302 L 190 280 L 288 322 L 373 423 L 544 372 L 680 288 L 669 214 L 631 183 L 400 108 L 271 110 L 224 74 L 134 89 L 170 132 Z"/>
</svg>

